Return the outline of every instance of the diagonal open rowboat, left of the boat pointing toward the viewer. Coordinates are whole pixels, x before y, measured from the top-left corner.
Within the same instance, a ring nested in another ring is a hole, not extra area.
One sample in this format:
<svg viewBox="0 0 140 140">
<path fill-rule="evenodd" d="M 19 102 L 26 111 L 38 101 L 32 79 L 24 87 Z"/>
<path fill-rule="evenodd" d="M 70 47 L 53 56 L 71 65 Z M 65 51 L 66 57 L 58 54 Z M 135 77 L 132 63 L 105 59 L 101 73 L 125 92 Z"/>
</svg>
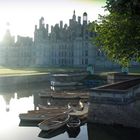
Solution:
<svg viewBox="0 0 140 140">
<path fill-rule="evenodd" d="M 38 126 L 41 130 L 44 131 L 55 130 L 64 126 L 68 122 L 69 118 L 70 116 L 68 113 L 62 113 L 55 117 L 42 121 L 38 124 Z"/>
</svg>

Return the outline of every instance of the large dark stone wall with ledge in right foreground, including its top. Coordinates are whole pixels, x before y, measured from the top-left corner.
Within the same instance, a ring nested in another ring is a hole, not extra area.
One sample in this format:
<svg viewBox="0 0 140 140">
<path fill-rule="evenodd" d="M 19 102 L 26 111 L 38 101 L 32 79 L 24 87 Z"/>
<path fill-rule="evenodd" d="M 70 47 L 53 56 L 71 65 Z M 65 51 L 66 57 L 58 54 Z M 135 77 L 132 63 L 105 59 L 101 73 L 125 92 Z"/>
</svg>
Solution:
<svg viewBox="0 0 140 140">
<path fill-rule="evenodd" d="M 140 128 L 140 79 L 93 88 L 89 102 L 90 122 Z"/>
</svg>

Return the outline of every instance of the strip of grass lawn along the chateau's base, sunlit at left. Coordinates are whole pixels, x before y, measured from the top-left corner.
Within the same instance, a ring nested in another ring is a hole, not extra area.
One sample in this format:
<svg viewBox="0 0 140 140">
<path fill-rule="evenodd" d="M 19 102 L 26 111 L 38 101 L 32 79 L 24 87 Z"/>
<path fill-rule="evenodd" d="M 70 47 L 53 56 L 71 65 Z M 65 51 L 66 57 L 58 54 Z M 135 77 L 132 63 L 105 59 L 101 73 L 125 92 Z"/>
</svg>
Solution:
<svg viewBox="0 0 140 140">
<path fill-rule="evenodd" d="M 49 67 L 49 68 L 6 68 L 0 66 L 0 75 L 32 75 L 32 74 L 47 74 L 47 73 L 63 73 L 63 72 L 73 72 L 73 71 L 82 71 L 84 69 L 80 68 L 71 68 L 71 67 Z M 109 73 L 101 72 L 98 73 L 100 76 L 106 76 Z M 130 74 L 140 74 L 140 68 L 129 68 Z M 98 75 L 97 74 L 97 75 Z"/>
</svg>

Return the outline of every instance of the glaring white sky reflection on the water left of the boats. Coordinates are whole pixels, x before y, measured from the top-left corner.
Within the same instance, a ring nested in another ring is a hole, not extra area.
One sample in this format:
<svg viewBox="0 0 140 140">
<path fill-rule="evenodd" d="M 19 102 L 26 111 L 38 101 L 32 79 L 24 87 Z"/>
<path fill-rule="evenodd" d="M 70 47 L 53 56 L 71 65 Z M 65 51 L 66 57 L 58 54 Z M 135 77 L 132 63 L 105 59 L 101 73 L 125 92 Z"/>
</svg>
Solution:
<svg viewBox="0 0 140 140">
<path fill-rule="evenodd" d="M 15 97 L 11 98 L 9 103 L 9 112 L 5 111 L 6 103 L 0 96 L 0 107 L 0 124 L 2 126 L 0 131 L 7 132 L 7 129 L 11 129 L 15 125 L 18 126 L 19 119 L 17 117 L 19 113 L 24 113 L 34 108 L 33 96 L 17 99 L 17 93 L 15 93 Z"/>
</svg>

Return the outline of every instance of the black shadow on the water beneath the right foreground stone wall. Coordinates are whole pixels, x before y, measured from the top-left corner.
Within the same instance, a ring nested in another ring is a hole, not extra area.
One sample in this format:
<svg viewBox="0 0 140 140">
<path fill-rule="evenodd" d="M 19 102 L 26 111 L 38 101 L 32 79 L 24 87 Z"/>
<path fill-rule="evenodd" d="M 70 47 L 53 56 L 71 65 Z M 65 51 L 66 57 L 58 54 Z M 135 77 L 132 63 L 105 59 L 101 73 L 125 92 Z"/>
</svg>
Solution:
<svg viewBox="0 0 140 140">
<path fill-rule="evenodd" d="M 140 140 L 140 129 L 119 125 L 87 124 L 88 140 Z"/>
</svg>

